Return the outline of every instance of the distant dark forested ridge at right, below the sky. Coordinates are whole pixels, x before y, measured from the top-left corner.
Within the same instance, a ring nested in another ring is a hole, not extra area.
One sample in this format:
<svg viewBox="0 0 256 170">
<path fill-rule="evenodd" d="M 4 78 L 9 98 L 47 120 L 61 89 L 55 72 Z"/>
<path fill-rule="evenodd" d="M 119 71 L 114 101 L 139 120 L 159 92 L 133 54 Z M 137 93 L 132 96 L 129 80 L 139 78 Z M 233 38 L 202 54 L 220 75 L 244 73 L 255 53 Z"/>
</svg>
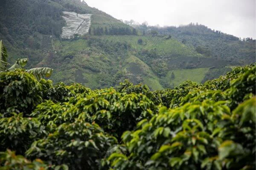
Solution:
<svg viewBox="0 0 256 170">
<path fill-rule="evenodd" d="M 171 35 L 185 45 L 195 48 L 198 53 L 212 58 L 235 60 L 239 63 L 249 64 L 255 62 L 255 42 L 252 38 L 239 40 L 230 34 L 212 30 L 207 26 L 190 23 L 186 26 L 154 27 L 136 26 L 140 31 L 157 31 L 159 34 Z"/>
</svg>

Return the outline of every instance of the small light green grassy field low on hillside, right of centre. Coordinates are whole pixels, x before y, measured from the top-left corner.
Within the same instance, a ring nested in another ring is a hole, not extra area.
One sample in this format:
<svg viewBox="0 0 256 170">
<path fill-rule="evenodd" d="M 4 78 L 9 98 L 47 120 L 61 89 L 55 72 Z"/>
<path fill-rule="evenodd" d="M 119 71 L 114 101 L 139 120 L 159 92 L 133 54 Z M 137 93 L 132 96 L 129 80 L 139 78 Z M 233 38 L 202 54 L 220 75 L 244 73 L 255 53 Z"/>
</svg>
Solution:
<svg viewBox="0 0 256 170">
<path fill-rule="evenodd" d="M 175 86 L 180 85 L 186 80 L 191 80 L 194 82 L 201 82 L 204 79 L 205 74 L 209 68 L 194 68 L 194 69 L 182 69 L 182 70 L 172 70 L 168 71 L 166 79 L 171 81 Z M 175 79 L 172 79 L 172 72 L 175 75 Z"/>
</svg>

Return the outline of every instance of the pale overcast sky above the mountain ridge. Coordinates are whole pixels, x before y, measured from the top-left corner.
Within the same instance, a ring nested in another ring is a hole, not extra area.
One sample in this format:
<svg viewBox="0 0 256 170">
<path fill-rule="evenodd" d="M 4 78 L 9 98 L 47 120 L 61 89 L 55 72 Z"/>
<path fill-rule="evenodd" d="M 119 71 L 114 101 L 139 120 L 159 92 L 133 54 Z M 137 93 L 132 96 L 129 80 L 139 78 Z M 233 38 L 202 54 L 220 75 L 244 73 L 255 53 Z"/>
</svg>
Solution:
<svg viewBox="0 0 256 170">
<path fill-rule="evenodd" d="M 256 39 L 256 0 L 85 0 L 117 19 L 155 26 L 203 24 L 236 37 Z"/>
</svg>

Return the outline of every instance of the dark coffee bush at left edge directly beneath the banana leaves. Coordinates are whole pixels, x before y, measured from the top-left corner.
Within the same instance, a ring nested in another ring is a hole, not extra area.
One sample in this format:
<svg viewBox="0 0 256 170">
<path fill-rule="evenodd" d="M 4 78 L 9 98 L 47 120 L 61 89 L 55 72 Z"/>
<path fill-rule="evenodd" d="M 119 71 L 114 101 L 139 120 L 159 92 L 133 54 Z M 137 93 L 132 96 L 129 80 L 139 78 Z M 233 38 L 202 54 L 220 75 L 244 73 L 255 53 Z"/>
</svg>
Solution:
<svg viewBox="0 0 256 170">
<path fill-rule="evenodd" d="M 0 73 L 0 112 L 16 108 L 27 116 L 42 102 L 41 90 L 32 74 L 21 70 Z"/>
</svg>

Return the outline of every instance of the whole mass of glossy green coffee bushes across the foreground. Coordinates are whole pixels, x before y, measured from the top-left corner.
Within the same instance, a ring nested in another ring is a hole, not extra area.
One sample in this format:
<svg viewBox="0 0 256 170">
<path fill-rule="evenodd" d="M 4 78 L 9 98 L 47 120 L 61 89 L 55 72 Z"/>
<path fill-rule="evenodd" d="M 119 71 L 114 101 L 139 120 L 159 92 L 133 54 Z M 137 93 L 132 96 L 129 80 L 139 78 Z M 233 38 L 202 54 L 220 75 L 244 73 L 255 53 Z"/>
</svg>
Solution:
<svg viewBox="0 0 256 170">
<path fill-rule="evenodd" d="M 256 66 L 150 91 L 0 73 L 0 170 L 249 170 Z"/>
</svg>

